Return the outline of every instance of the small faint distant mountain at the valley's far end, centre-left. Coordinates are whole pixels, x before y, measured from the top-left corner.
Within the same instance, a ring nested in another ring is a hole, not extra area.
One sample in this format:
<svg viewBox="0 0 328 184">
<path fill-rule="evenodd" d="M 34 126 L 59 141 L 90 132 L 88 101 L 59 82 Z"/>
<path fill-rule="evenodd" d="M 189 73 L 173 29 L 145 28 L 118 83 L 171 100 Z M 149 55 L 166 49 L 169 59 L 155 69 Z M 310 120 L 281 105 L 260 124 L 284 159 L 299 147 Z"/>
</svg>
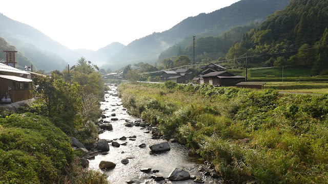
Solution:
<svg viewBox="0 0 328 184">
<path fill-rule="evenodd" d="M 112 57 L 124 47 L 124 44 L 121 44 L 119 42 L 113 42 L 107 45 L 106 47 L 98 49 L 97 51 L 87 49 L 77 49 L 75 51 L 84 58 L 86 58 L 86 60 L 91 61 L 92 63 L 100 66 L 105 65 L 109 57 Z"/>
</svg>

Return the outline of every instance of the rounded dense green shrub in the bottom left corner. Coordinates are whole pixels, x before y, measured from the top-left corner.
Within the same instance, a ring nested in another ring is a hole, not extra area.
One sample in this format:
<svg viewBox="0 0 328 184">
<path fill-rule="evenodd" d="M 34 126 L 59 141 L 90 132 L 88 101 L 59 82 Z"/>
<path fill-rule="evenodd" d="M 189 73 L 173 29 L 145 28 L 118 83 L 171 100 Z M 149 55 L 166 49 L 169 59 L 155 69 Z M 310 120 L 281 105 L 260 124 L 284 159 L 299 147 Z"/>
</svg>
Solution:
<svg viewBox="0 0 328 184">
<path fill-rule="evenodd" d="M 71 163 L 69 137 L 47 119 L 32 113 L 12 114 L 0 118 L 0 125 L 0 180 L 53 183 Z"/>
</svg>

